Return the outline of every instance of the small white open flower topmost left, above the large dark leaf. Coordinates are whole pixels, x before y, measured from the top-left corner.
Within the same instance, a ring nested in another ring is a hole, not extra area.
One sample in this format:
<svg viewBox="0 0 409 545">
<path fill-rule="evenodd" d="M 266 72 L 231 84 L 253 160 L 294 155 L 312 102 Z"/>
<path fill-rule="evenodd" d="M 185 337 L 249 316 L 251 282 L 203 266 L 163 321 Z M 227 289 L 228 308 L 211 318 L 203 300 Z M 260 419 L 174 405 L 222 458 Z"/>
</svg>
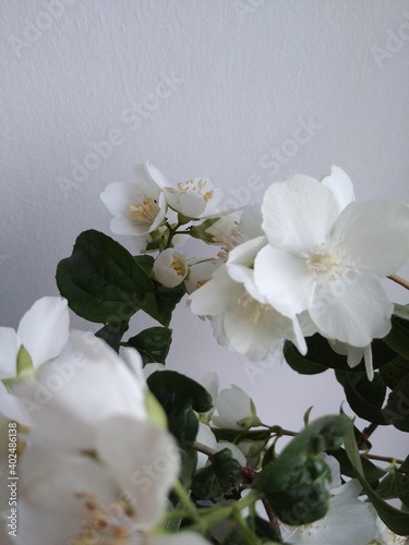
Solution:
<svg viewBox="0 0 409 545">
<path fill-rule="evenodd" d="M 111 231 L 146 239 L 155 231 L 166 214 L 163 187 L 167 184 L 164 174 L 149 162 L 134 167 L 135 182 L 110 183 L 100 198 L 113 215 Z"/>
</svg>

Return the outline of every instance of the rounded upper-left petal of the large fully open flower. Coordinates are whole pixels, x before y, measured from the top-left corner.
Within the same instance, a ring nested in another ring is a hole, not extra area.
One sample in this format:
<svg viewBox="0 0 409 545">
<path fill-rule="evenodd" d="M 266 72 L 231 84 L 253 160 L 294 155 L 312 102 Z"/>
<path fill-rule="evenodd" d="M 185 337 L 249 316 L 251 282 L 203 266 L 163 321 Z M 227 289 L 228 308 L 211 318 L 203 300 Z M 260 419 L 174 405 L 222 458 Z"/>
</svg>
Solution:
<svg viewBox="0 0 409 545">
<path fill-rule="evenodd" d="M 300 254 L 325 240 L 338 214 L 337 199 L 328 187 L 297 174 L 273 183 L 265 192 L 262 228 L 273 246 Z"/>
</svg>

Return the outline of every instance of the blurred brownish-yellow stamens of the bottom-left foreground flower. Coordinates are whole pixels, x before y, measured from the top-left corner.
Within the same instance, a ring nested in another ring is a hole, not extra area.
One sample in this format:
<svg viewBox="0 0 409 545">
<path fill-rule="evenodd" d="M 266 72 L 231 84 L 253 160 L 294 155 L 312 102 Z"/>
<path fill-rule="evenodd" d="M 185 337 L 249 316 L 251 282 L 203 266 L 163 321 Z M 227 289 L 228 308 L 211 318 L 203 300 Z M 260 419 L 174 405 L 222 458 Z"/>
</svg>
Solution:
<svg viewBox="0 0 409 545">
<path fill-rule="evenodd" d="M 132 520 L 136 514 L 132 506 L 132 498 L 128 495 L 112 502 L 106 504 L 96 494 L 81 492 L 75 494 L 85 508 L 83 531 L 71 540 L 70 545 L 120 545 L 128 543 L 132 536 L 132 543 L 139 543 L 140 529 Z"/>
</svg>

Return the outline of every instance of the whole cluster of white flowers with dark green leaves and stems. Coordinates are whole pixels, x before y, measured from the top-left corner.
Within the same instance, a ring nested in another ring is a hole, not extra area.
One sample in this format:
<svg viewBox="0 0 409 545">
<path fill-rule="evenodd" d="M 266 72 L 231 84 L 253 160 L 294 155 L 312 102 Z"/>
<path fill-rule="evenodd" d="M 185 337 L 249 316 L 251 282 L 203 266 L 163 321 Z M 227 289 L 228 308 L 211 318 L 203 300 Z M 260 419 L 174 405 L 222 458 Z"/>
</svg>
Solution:
<svg viewBox="0 0 409 545">
<path fill-rule="evenodd" d="M 81 233 L 57 268 L 62 296 L 0 327 L 0 429 L 15 429 L 0 451 L 1 543 L 406 543 L 409 457 L 375 465 L 369 438 L 378 425 L 409 432 L 409 308 L 381 284 L 409 288 L 396 276 L 409 207 L 357 203 L 338 167 L 221 211 L 209 179 L 171 185 L 145 164 L 101 201 L 139 254 Z M 187 255 L 188 239 L 214 255 Z M 309 412 L 300 432 L 265 424 L 238 386 L 169 371 L 183 296 L 239 354 L 334 368 L 369 426 Z M 100 329 L 70 331 L 69 307 Z M 137 331 L 139 312 L 159 325 Z"/>
</svg>

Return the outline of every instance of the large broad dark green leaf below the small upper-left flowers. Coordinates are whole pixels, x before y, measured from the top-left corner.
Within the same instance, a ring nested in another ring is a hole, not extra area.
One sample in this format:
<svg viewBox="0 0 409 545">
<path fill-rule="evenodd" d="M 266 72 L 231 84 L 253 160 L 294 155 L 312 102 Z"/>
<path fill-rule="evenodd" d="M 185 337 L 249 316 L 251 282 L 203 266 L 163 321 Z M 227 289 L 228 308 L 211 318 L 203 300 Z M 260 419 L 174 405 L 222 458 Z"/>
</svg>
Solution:
<svg viewBox="0 0 409 545">
<path fill-rule="evenodd" d="M 129 319 L 154 289 L 128 250 L 94 230 L 81 233 L 72 255 L 58 264 L 57 284 L 79 316 L 104 324 Z"/>
</svg>

